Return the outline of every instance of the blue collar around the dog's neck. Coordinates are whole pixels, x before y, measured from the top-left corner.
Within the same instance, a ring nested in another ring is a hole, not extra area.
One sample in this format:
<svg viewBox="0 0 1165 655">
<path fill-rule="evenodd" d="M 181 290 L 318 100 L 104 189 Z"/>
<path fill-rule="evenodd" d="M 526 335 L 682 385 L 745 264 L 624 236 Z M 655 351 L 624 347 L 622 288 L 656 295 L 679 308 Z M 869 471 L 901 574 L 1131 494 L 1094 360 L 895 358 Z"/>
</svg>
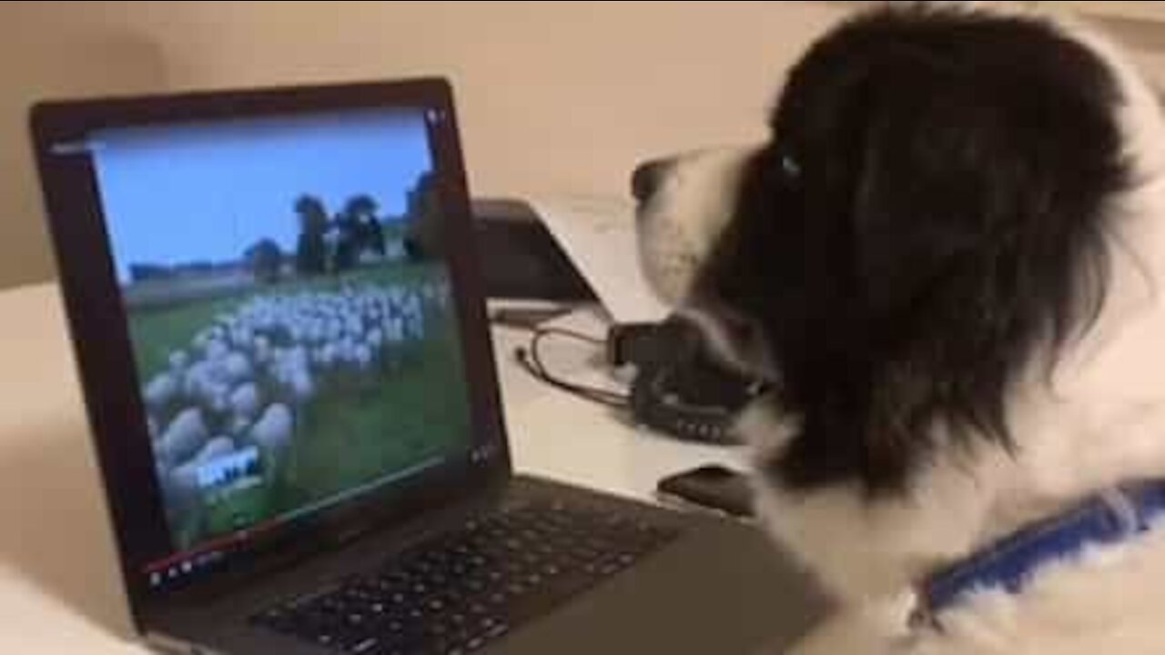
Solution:
<svg viewBox="0 0 1165 655">
<path fill-rule="evenodd" d="M 934 621 L 968 593 L 1016 593 L 1043 565 L 1148 530 L 1165 514 L 1165 480 L 1136 483 L 1089 498 L 927 578 L 912 622 Z"/>
</svg>

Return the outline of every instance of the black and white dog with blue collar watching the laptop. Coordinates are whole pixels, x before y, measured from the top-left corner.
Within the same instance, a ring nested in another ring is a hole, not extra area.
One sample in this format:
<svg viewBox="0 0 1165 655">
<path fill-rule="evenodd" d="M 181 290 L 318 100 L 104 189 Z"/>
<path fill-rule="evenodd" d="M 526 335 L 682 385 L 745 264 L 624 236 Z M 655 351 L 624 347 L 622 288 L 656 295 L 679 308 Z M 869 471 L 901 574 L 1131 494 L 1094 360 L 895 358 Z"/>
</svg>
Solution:
<svg viewBox="0 0 1165 655">
<path fill-rule="evenodd" d="M 810 48 L 770 128 L 633 188 L 651 283 L 771 382 L 739 423 L 763 522 L 850 607 L 803 648 L 1165 653 L 1149 84 L 1065 17 L 887 6 Z"/>
</svg>

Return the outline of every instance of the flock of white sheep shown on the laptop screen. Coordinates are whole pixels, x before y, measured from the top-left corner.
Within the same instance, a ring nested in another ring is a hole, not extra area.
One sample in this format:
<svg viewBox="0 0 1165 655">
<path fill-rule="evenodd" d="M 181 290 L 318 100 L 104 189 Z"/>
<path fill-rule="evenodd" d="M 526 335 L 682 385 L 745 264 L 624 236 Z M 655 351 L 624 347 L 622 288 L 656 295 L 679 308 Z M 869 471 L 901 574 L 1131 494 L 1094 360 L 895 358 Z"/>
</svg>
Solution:
<svg viewBox="0 0 1165 655">
<path fill-rule="evenodd" d="M 207 480 L 223 479 L 216 462 L 248 466 L 245 451 L 277 462 L 329 380 L 381 374 L 424 337 L 426 307 L 447 298 L 438 282 L 345 286 L 259 295 L 216 317 L 142 389 L 168 505 L 197 503 Z"/>
</svg>

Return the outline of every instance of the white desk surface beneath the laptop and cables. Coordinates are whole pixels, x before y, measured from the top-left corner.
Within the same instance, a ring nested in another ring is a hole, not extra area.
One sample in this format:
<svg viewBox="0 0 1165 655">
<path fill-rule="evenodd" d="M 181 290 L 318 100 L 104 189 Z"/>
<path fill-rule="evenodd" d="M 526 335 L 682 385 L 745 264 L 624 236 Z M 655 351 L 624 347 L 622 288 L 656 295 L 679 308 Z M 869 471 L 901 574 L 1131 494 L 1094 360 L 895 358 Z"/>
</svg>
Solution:
<svg viewBox="0 0 1165 655">
<path fill-rule="evenodd" d="M 0 653 L 143 653 L 129 640 L 57 288 L 0 293 Z M 494 337 L 520 471 L 648 499 L 664 474 L 740 464 L 541 386 L 511 362 L 527 336 Z M 564 361 L 563 374 L 585 373 L 585 358 Z"/>
</svg>

